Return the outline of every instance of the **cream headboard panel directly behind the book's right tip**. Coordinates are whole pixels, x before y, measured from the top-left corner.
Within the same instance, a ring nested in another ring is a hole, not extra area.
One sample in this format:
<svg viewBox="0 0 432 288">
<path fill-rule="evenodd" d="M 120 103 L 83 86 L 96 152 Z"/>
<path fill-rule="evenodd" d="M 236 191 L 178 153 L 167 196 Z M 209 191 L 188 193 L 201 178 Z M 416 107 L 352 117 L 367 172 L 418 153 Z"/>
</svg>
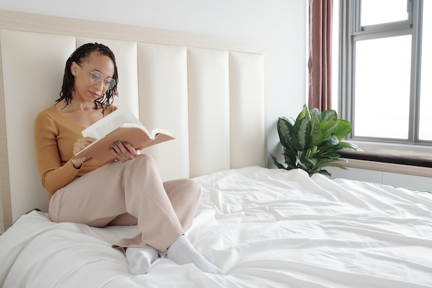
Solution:
<svg viewBox="0 0 432 288">
<path fill-rule="evenodd" d="M 139 43 L 138 51 L 141 122 L 166 128 L 177 137 L 165 144 L 168 147 L 149 147 L 146 153 L 164 167 L 165 179 L 189 177 L 189 138 L 178 137 L 188 135 L 187 48 Z"/>
</svg>

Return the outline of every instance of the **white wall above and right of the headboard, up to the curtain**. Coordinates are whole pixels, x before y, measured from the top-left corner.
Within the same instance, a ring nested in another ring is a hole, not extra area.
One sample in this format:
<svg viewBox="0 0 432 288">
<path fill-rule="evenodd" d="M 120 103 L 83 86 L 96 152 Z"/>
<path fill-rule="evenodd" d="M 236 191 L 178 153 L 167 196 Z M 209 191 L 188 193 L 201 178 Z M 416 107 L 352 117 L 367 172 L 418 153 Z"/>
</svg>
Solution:
<svg viewBox="0 0 432 288">
<path fill-rule="evenodd" d="M 277 117 L 297 116 L 306 99 L 306 0 L 0 0 L 0 9 L 264 42 L 273 155 Z"/>
</svg>

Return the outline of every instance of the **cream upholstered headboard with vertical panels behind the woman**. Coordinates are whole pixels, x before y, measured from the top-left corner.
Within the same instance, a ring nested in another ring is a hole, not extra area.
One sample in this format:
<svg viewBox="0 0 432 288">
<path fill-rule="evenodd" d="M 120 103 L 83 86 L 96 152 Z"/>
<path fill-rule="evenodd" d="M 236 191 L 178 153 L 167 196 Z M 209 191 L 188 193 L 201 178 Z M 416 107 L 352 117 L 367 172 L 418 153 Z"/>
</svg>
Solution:
<svg viewBox="0 0 432 288">
<path fill-rule="evenodd" d="M 266 165 L 263 44 L 0 10 L 1 231 L 48 209 L 33 120 L 59 97 L 69 55 L 95 41 L 116 55 L 114 104 L 176 137 L 144 151 L 164 180 Z"/>
</svg>

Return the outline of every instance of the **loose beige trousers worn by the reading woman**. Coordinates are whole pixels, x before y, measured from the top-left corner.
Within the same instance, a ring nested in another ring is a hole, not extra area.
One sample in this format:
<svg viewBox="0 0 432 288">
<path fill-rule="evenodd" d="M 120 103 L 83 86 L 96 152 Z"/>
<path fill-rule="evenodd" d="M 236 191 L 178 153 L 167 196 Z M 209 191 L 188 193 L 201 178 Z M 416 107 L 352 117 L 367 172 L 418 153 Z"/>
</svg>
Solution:
<svg viewBox="0 0 432 288">
<path fill-rule="evenodd" d="M 153 247 L 161 255 L 190 228 L 201 187 L 190 179 L 162 182 L 146 154 L 112 162 L 56 191 L 49 205 L 53 222 L 92 227 L 137 224 L 139 235 L 113 247 Z"/>
</svg>

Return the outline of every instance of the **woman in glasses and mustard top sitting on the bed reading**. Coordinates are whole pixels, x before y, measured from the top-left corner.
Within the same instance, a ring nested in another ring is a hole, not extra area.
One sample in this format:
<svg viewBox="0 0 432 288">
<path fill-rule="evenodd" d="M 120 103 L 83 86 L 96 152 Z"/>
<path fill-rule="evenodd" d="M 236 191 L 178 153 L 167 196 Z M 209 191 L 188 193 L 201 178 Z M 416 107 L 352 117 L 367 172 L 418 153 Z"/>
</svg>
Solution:
<svg viewBox="0 0 432 288">
<path fill-rule="evenodd" d="M 50 219 L 92 227 L 137 224 L 139 235 L 113 244 L 124 249 L 130 273 L 146 273 L 158 255 L 222 273 L 184 236 L 201 193 L 195 182 L 162 182 L 153 157 L 121 139 L 107 147 L 115 162 L 102 166 L 94 159 L 72 159 L 94 141 L 81 131 L 115 111 L 117 81 L 112 51 L 85 44 L 66 61 L 60 98 L 35 119 L 37 166 L 50 193 Z"/>
</svg>

